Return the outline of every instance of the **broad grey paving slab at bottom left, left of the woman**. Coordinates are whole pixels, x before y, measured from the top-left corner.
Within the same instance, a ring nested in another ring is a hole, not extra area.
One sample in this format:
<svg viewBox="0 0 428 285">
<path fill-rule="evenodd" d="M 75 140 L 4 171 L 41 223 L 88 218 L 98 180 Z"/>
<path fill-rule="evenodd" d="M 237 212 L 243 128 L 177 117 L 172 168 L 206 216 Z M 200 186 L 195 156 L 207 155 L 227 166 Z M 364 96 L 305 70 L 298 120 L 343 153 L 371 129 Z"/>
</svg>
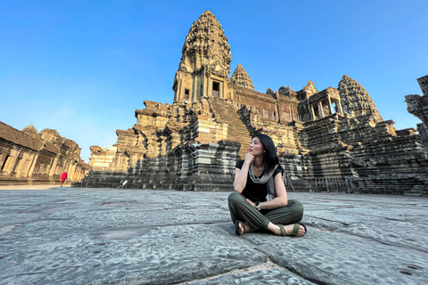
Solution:
<svg viewBox="0 0 428 285">
<path fill-rule="evenodd" d="M 212 225 L 66 232 L 56 222 L 14 231 L 12 246 L 0 240 L 1 284 L 169 284 L 267 261 Z"/>
</svg>

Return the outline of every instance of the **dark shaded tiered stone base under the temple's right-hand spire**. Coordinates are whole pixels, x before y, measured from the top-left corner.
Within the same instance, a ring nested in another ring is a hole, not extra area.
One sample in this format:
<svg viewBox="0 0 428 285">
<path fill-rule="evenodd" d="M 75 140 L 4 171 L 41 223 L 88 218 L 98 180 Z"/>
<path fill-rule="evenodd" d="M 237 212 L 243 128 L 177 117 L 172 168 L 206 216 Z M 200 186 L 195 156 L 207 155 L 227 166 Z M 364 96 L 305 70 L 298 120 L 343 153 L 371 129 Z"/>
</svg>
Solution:
<svg viewBox="0 0 428 285">
<path fill-rule="evenodd" d="M 396 131 L 392 121 L 339 114 L 305 124 L 300 142 L 306 179 L 352 178 L 352 191 L 422 193 L 427 190 L 427 154 L 415 129 Z"/>
</svg>

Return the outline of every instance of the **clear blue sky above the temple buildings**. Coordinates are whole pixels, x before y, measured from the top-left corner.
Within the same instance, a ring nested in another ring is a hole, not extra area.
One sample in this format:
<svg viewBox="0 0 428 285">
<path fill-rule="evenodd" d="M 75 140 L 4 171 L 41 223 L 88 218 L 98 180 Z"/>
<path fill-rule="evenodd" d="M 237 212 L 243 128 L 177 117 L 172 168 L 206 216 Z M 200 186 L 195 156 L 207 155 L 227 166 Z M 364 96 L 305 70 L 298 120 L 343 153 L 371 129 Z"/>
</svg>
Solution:
<svg viewBox="0 0 428 285">
<path fill-rule="evenodd" d="M 428 74 L 428 1 L 2 1 L 0 120 L 109 147 L 144 101 L 172 103 L 185 36 L 210 10 L 255 89 L 344 74 L 397 129 L 420 121 L 404 96 Z"/>
</svg>

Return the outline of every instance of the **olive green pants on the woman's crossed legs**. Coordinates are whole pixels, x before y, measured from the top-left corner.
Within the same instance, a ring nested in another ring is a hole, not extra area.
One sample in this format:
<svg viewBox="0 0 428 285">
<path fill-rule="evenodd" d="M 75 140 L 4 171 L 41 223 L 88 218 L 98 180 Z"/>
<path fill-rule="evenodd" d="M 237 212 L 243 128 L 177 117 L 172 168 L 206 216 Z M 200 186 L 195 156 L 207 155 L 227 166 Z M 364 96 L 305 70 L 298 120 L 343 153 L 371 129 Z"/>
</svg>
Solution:
<svg viewBox="0 0 428 285">
<path fill-rule="evenodd" d="M 232 192 L 228 197 L 232 222 L 238 220 L 248 223 L 254 231 L 267 230 L 269 222 L 272 224 L 295 224 L 303 217 L 303 205 L 297 199 L 289 199 L 282 208 L 259 211 L 252 207 L 243 194 Z M 264 214 L 264 215 L 263 215 Z"/>
</svg>

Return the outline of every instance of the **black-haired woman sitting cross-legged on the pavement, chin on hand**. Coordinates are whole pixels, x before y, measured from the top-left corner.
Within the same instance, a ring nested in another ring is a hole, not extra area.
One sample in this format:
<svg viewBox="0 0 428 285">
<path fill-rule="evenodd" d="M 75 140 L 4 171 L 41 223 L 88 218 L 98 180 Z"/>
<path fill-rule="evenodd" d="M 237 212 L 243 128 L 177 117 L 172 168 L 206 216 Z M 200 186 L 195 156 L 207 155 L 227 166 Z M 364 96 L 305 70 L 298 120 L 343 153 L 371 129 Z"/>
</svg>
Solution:
<svg viewBox="0 0 428 285">
<path fill-rule="evenodd" d="M 274 141 L 267 134 L 255 135 L 245 160 L 236 163 L 235 191 L 228 197 L 236 234 L 264 230 L 283 236 L 306 234 L 306 226 L 299 223 L 303 205 L 287 199 L 283 172 Z"/>
</svg>

